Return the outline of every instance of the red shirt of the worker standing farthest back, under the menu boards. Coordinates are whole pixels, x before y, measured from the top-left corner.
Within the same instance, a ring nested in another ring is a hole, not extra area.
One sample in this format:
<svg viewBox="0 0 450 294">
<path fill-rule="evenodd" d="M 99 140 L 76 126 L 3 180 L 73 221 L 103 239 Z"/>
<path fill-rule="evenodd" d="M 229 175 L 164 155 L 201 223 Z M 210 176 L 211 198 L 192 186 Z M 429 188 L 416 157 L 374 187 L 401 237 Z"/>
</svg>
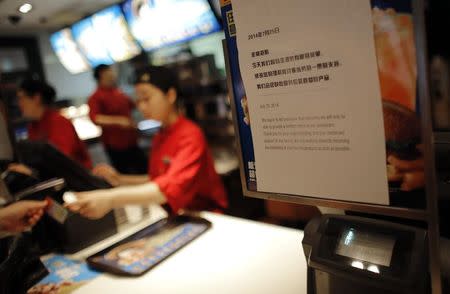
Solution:
<svg viewBox="0 0 450 294">
<path fill-rule="evenodd" d="M 97 114 L 131 117 L 133 101 L 118 88 L 98 88 L 88 101 L 89 116 L 95 122 Z M 102 141 L 107 148 L 125 150 L 137 145 L 137 131 L 120 126 L 102 126 Z"/>
</svg>

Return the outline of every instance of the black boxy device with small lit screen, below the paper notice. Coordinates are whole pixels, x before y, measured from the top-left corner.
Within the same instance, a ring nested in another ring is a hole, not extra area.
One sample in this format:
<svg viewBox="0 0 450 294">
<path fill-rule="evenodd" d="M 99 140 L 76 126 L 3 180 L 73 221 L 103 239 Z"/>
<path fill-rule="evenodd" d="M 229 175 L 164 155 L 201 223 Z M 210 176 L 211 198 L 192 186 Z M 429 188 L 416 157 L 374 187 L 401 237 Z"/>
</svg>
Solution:
<svg viewBox="0 0 450 294">
<path fill-rule="evenodd" d="M 428 293 L 425 230 L 323 215 L 304 230 L 308 294 Z"/>
</svg>

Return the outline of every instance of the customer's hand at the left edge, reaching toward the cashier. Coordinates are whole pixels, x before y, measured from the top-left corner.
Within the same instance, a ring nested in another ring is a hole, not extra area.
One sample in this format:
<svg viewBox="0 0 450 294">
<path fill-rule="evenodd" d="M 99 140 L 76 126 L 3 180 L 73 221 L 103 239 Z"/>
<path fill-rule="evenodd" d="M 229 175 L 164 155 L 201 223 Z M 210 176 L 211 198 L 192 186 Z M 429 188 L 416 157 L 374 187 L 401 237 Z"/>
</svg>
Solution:
<svg viewBox="0 0 450 294">
<path fill-rule="evenodd" d="M 19 201 L 0 209 L 0 231 L 19 233 L 34 226 L 44 214 L 47 201 Z"/>
</svg>

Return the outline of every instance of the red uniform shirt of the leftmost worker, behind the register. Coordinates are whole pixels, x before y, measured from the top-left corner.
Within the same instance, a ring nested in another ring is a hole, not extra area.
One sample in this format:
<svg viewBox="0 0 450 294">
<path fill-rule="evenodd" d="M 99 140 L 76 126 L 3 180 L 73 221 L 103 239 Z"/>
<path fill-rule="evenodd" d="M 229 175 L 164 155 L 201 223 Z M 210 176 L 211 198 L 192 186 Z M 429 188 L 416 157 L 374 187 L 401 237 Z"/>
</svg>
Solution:
<svg viewBox="0 0 450 294">
<path fill-rule="evenodd" d="M 28 126 L 28 138 L 47 141 L 84 167 L 92 168 L 86 145 L 78 137 L 70 120 L 56 110 L 48 109 L 39 121 L 32 122 Z"/>
</svg>

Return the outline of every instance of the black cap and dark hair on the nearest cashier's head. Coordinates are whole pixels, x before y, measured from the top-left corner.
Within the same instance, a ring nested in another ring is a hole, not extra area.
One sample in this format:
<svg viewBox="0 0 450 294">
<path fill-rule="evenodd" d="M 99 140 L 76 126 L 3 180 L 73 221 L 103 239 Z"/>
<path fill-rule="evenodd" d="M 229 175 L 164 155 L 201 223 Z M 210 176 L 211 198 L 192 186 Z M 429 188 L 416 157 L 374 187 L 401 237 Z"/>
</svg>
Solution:
<svg viewBox="0 0 450 294">
<path fill-rule="evenodd" d="M 169 89 L 173 88 L 180 96 L 178 87 L 178 77 L 169 68 L 163 66 L 148 66 L 144 69 L 136 71 L 134 84 L 148 83 L 152 84 L 164 93 L 167 93 Z"/>
</svg>

